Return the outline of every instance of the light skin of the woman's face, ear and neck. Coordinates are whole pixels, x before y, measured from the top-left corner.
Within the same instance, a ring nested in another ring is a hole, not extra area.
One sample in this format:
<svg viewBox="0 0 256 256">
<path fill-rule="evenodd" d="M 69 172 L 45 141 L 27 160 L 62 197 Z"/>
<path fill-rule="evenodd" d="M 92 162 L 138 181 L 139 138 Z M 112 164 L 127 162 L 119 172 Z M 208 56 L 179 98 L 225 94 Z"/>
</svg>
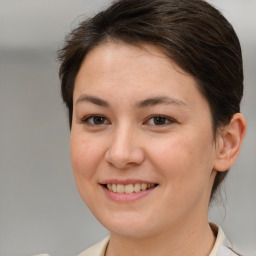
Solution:
<svg viewBox="0 0 256 256">
<path fill-rule="evenodd" d="M 156 47 L 122 42 L 102 43 L 87 54 L 73 99 L 74 177 L 110 231 L 106 255 L 209 255 L 215 170 L 234 163 L 243 116 L 234 115 L 214 139 L 209 104 L 195 79 Z M 136 183 L 149 189 L 112 190 Z"/>
</svg>

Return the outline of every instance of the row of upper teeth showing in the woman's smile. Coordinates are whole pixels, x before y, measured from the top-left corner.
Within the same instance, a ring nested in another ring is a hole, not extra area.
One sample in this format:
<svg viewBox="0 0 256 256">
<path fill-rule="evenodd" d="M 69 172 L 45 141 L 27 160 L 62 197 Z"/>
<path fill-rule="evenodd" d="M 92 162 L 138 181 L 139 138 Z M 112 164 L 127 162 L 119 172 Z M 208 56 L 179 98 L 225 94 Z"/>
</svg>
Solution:
<svg viewBox="0 0 256 256">
<path fill-rule="evenodd" d="M 131 194 L 134 192 L 139 192 L 141 190 L 146 190 L 149 188 L 153 188 L 155 184 L 146 184 L 146 183 L 136 183 L 136 184 L 107 184 L 107 188 L 115 193 L 126 193 Z"/>
</svg>

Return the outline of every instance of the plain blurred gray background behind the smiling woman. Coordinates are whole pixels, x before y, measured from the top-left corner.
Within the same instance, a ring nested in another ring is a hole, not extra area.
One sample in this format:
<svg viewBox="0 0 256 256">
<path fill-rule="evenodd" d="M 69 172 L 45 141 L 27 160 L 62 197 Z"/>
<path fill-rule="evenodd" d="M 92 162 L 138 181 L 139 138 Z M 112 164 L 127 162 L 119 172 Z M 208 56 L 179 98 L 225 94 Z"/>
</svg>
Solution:
<svg viewBox="0 0 256 256">
<path fill-rule="evenodd" d="M 77 255 L 107 232 L 80 199 L 69 160 L 56 50 L 103 0 L 0 0 L 0 255 Z M 243 48 L 248 132 L 211 220 L 256 251 L 256 1 L 212 0 Z"/>
</svg>

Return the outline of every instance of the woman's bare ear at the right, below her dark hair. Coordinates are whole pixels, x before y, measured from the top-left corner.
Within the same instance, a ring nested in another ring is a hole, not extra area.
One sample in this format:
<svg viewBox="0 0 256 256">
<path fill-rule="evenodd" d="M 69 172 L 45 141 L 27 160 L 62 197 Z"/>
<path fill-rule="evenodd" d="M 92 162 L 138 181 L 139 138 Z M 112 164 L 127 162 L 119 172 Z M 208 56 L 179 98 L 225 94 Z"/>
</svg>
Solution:
<svg viewBox="0 0 256 256">
<path fill-rule="evenodd" d="M 246 132 L 246 121 L 241 113 L 233 115 L 230 123 L 224 126 L 216 138 L 216 171 L 228 170 L 236 161 Z"/>
</svg>

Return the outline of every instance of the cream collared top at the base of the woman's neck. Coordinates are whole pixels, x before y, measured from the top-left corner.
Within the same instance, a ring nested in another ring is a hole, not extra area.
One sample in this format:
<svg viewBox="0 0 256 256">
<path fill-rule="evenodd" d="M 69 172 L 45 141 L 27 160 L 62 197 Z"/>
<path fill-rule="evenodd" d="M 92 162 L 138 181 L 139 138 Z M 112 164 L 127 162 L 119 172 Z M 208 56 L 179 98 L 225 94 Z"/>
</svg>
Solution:
<svg viewBox="0 0 256 256">
<path fill-rule="evenodd" d="M 209 256 L 241 256 L 241 254 L 235 252 L 232 249 L 232 245 L 225 237 L 222 229 L 214 224 L 211 224 L 211 226 L 216 230 L 217 238 Z M 109 237 L 106 237 L 98 244 L 93 245 L 92 247 L 79 254 L 79 256 L 105 256 L 108 243 Z"/>
</svg>

